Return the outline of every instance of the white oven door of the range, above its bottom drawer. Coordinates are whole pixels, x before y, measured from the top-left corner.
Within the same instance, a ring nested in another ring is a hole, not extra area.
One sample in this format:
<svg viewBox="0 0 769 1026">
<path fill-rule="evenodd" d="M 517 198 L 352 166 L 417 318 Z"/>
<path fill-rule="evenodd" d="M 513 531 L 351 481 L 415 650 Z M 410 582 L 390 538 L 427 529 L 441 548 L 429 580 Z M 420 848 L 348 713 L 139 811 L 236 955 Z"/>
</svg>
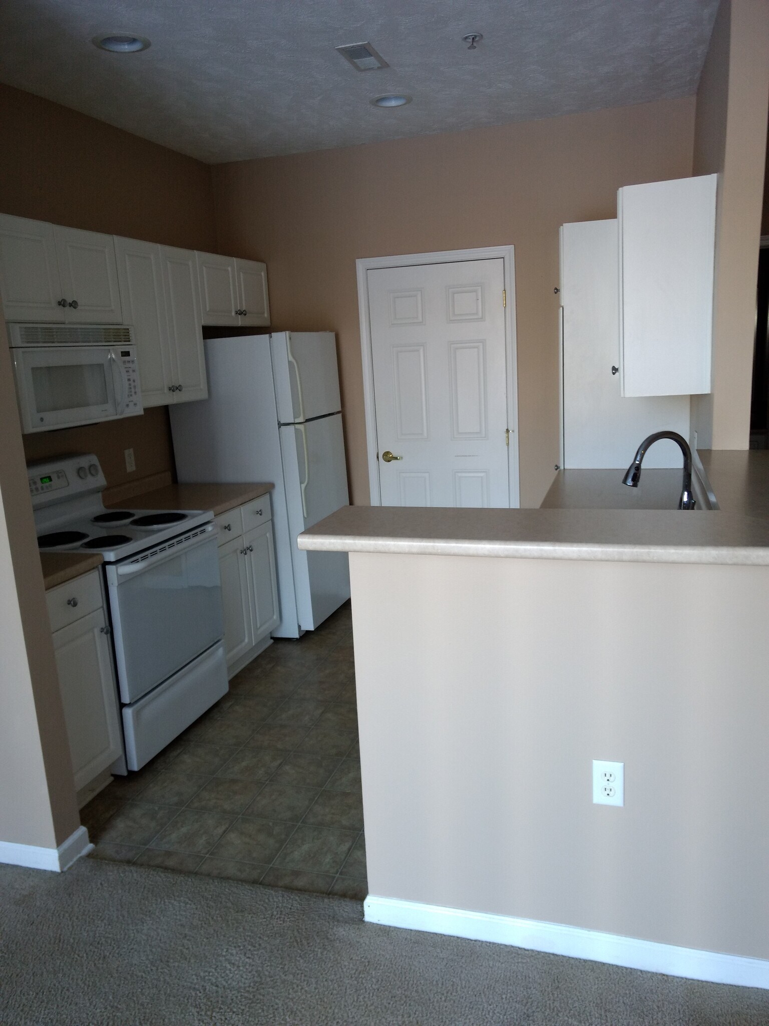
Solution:
<svg viewBox="0 0 769 1026">
<path fill-rule="evenodd" d="M 224 633 L 212 523 L 107 566 L 120 698 L 135 702 Z"/>
</svg>

